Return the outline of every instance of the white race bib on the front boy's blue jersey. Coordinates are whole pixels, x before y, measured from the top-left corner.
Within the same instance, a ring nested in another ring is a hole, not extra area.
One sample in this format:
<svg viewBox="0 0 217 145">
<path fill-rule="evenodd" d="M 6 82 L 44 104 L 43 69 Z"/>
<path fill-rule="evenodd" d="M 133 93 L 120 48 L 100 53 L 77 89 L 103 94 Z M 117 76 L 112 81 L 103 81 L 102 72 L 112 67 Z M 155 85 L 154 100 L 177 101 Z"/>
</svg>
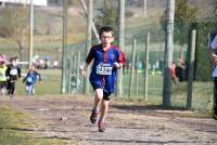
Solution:
<svg viewBox="0 0 217 145">
<path fill-rule="evenodd" d="M 111 64 L 100 63 L 97 66 L 97 74 L 98 75 L 112 75 L 112 66 Z"/>
</svg>

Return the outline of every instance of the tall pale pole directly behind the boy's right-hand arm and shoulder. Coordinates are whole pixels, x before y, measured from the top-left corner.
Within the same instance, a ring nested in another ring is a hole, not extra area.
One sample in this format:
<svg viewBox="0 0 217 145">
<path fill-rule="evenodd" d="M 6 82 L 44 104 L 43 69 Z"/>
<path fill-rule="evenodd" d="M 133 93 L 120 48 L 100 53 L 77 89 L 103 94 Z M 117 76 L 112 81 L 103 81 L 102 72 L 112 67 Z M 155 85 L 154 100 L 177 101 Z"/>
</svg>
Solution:
<svg viewBox="0 0 217 145">
<path fill-rule="evenodd" d="M 125 0 L 119 0 L 119 29 L 118 47 L 124 51 L 125 47 Z M 117 72 L 117 92 L 116 96 L 123 96 L 123 69 Z"/>
</svg>

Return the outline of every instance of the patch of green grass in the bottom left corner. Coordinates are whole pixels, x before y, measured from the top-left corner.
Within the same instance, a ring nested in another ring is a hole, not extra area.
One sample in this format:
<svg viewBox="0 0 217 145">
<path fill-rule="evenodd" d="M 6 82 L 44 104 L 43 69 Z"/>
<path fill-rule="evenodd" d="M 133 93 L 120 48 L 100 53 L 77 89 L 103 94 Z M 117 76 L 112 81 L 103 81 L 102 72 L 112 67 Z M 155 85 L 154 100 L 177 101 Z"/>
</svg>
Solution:
<svg viewBox="0 0 217 145">
<path fill-rule="evenodd" d="M 34 118 L 0 105 L 0 145 L 64 145 L 66 142 L 56 139 L 42 139 L 34 134 Z"/>
</svg>

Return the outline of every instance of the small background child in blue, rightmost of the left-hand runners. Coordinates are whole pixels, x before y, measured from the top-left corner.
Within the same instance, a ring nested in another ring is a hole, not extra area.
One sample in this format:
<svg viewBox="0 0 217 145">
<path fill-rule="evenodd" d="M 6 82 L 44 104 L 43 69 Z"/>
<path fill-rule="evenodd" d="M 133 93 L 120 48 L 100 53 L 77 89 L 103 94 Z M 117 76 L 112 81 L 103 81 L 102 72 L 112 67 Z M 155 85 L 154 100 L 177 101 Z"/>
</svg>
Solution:
<svg viewBox="0 0 217 145">
<path fill-rule="evenodd" d="M 37 72 L 35 70 L 35 67 L 31 66 L 31 68 L 28 70 L 26 77 L 23 80 L 23 82 L 26 82 L 26 94 L 27 95 L 35 94 L 35 84 L 38 80 L 41 82 L 41 76 L 39 72 Z"/>
</svg>

